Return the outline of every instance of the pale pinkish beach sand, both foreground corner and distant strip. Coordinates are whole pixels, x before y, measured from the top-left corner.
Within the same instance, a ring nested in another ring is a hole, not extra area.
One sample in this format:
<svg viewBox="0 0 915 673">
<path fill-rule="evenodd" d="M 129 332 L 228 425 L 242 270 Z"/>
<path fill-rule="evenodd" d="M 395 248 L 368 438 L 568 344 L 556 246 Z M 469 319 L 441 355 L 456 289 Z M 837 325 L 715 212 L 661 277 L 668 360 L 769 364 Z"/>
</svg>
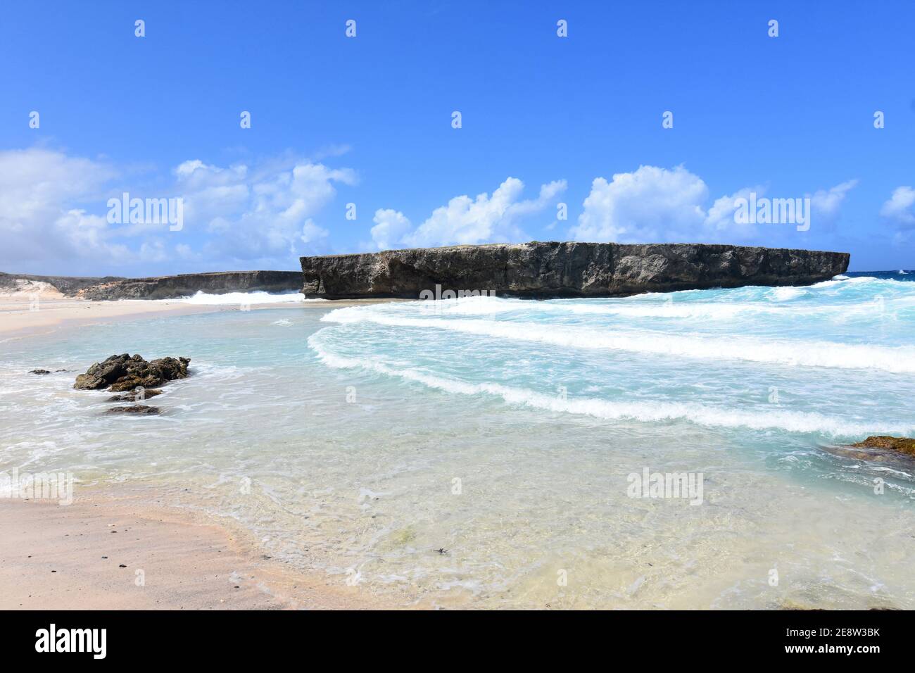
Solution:
<svg viewBox="0 0 915 673">
<path fill-rule="evenodd" d="M 34 296 L 0 297 L 4 341 L 95 322 L 237 310 L 178 300 L 64 299 L 53 293 L 39 299 L 34 310 L 33 301 Z M 289 302 L 263 308 L 319 307 Z M 71 505 L 0 499 L 0 609 L 389 607 L 359 587 L 270 558 L 240 528 L 151 505 L 156 500 L 148 488 L 111 484 L 79 488 Z"/>
</svg>

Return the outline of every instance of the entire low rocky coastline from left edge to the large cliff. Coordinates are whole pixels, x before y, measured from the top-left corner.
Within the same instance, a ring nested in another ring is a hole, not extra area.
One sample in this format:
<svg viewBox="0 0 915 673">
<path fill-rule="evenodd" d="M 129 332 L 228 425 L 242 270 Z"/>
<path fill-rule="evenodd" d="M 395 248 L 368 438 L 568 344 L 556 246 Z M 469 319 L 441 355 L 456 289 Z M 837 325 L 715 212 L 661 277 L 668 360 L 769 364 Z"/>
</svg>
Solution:
<svg viewBox="0 0 915 673">
<path fill-rule="evenodd" d="M 79 299 L 176 299 L 198 291 L 208 294 L 227 292 L 296 292 L 302 286 L 297 271 L 218 271 L 147 278 L 53 277 L 0 273 L 0 288 L 27 291 L 35 284 L 47 284 L 65 297 Z"/>
</svg>

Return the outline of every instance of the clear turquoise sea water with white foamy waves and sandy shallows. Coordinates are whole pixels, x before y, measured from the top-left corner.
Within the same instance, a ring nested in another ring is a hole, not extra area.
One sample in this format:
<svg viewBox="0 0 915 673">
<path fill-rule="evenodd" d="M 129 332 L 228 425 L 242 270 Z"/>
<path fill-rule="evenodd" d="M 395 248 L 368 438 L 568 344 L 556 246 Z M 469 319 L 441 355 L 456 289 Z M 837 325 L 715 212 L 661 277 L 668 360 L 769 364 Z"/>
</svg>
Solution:
<svg viewBox="0 0 915 673">
<path fill-rule="evenodd" d="M 0 470 L 155 484 L 407 604 L 912 608 L 912 466 L 836 449 L 915 436 L 905 281 L 318 302 L 6 341 Z M 103 417 L 108 394 L 70 387 L 128 351 L 191 358 L 162 416 Z M 646 469 L 701 473 L 702 503 L 630 497 Z"/>
</svg>

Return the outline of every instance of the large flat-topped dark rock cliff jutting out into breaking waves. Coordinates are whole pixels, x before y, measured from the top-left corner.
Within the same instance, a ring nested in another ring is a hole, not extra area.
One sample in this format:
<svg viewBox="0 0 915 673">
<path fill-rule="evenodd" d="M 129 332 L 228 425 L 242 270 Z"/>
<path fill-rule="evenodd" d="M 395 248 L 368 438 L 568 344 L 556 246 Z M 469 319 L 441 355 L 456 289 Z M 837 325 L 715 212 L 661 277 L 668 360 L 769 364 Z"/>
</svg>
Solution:
<svg viewBox="0 0 915 673">
<path fill-rule="evenodd" d="M 424 290 L 501 297 L 624 297 L 642 292 L 810 285 L 847 253 L 713 244 L 456 245 L 302 257 L 307 297 L 418 299 Z M 447 295 L 446 295 L 447 296 Z"/>
</svg>

